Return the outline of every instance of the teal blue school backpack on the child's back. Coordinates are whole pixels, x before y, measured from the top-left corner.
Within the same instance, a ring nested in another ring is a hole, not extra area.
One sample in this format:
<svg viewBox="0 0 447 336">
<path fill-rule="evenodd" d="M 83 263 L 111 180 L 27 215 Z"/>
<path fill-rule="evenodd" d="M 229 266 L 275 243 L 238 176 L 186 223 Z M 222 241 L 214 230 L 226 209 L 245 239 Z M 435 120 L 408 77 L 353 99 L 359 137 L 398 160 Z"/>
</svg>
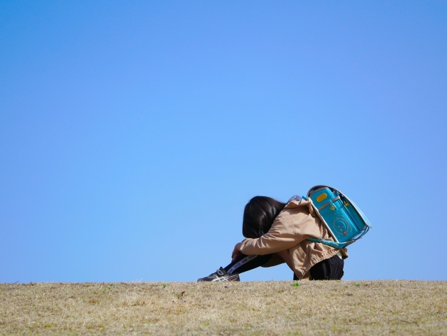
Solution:
<svg viewBox="0 0 447 336">
<path fill-rule="evenodd" d="M 322 244 L 336 249 L 356 242 L 372 228 L 365 214 L 342 191 L 329 186 L 315 186 L 302 196 L 309 200 L 318 217 L 328 229 L 335 240 L 321 238 L 308 238 L 311 242 Z"/>
</svg>

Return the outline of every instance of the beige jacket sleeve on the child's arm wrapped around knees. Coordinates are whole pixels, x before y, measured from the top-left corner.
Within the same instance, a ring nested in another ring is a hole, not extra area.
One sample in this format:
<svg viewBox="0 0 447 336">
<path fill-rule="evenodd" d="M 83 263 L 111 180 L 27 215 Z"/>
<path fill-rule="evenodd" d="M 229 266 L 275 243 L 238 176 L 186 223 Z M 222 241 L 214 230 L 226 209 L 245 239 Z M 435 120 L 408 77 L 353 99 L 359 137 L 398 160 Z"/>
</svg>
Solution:
<svg viewBox="0 0 447 336">
<path fill-rule="evenodd" d="M 309 237 L 309 235 L 297 234 L 286 219 L 277 217 L 268 233 L 265 233 L 260 238 L 243 240 L 240 245 L 240 251 L 247 255 L 272 254 L 290 249 Z"/>
</svg>

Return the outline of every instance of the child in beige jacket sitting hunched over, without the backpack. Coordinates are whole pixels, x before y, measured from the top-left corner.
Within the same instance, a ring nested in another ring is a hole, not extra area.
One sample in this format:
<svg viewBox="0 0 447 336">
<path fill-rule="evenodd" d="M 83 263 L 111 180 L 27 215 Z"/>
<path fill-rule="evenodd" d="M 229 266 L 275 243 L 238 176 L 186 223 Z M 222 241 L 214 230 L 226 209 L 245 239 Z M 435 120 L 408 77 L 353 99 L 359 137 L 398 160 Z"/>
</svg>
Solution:
<svg viewBox="0 0 447 336">
<path fill-rule="evenodd" d="M 240 281 L 239 273 L 259 266 L 287 263 L 293 279 L 339 280 L 347 249 L 335 249 L 307 238 L 333 240 L 308 200 L 293 196 L 288 203 L 256 196 L 245 205 L 242 235 L 226 268 L 199 282 Z"/>
</svg>

